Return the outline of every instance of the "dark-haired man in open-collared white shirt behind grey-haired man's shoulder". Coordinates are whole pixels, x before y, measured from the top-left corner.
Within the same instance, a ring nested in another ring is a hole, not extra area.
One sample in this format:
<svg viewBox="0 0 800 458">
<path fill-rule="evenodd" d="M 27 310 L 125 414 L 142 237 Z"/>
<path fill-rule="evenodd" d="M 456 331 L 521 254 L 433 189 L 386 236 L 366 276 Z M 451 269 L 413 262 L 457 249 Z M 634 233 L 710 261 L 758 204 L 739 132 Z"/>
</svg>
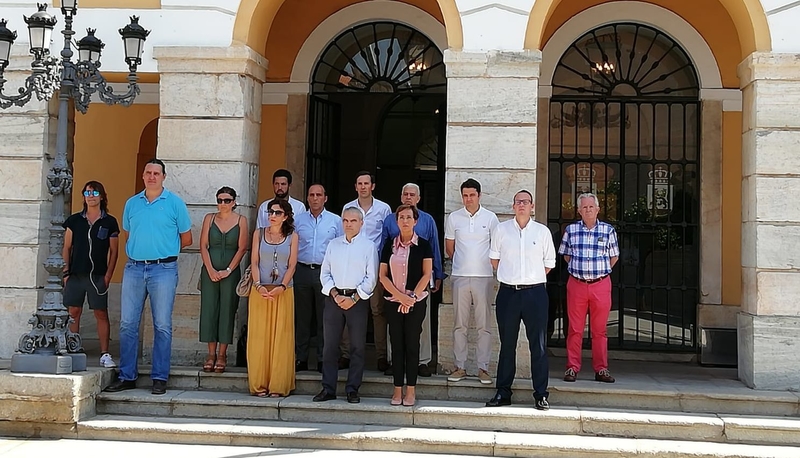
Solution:
<svg viewBox="0 0 800 458">
<path fill-rule="evenodd" d="M 352 202 L 348 202 L 344 208 L 356 207 L 361 209 L 364 214 L 364 224 L 361 227 L 361 234 L 372 241 L 375 245 L 375 254 L 378 254 L 383 232 L 383 220 L 386 219 L 387 216 L 392 215 L 393 212 L 386 202 L 372 196 L 372 191 L 374 190 L 375 177 L 367 171 L 358 172 L 356 174 L 356 192 L 358 193 L 358 198 Z M 342 210 L 342 213 L 344 213 L 344 210 Z M 375 269 L 375 275 L 377 275 L 377 267 Z M 383 372 L 389 368 L 389 360 L 387 359 L 386 351 L 386 334 L 388 328 L 386 327 L 386 317 L 383 316 L 383 287 L 380 283 L 376 286 L 375 294 L 373 294 L 369 300 L 369 306 L 372 310 L 372 324 L 375 332 L 375 356 L 378 359 L 378 370 Z M 345 333 L 342 339 L 342 357 L 339 361 L 340 369 L 346 368 L 349 364 L 350 356 L 347 335 L 348 334 Z"/>
</svg>

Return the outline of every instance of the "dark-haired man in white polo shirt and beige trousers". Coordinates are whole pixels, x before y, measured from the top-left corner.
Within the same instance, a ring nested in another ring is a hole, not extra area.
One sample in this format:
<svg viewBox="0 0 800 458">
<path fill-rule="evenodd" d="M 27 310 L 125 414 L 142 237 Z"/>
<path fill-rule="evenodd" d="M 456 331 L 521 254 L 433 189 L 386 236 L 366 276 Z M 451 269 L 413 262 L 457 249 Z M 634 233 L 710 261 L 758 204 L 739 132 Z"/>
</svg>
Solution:
<svg viewBox="0 0 800 458">
<path fill-rule="evenodd" d="M 491 384 L 489 358 L 492 347 L 492 263 L 489 261 L 491 233 L 499 221 L 497 215 L 481 207 L 481 184 L 470 178 L 461 183 L 464 208 L 447 216 L 444 225 L 444 251 L 453 260 L 453 356 L 455 369 L 447 380 L 458 382 L 467 376 L 467 331 L 469 309 L 475 306 L 478 329 L 478 379 Z"/>
</svg>

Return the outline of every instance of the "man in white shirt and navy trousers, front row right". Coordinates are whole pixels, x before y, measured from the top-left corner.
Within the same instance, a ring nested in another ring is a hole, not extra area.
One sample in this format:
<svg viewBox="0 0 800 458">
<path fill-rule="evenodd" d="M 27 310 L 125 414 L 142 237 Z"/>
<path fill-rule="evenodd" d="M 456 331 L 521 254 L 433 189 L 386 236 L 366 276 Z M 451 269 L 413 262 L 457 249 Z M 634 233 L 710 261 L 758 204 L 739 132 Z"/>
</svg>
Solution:
<svg viewBox="0 0 800 458">
<path fill-rule="evenodd" d="M 497 269 L 496 316 L 500 334 L 497 393 L 486 407 L 511 405 L 511 384 L 517 372 L 517 337 L 525 323 L 531 351 L 534 407 L 548 410 L 547 273 L 556 265 L 553 235 L 531 218 L 533 196 L 521 190 L 514 195 L 514 219 L 503 221 L 492 232 L 489 258 Z"/>
</svg>

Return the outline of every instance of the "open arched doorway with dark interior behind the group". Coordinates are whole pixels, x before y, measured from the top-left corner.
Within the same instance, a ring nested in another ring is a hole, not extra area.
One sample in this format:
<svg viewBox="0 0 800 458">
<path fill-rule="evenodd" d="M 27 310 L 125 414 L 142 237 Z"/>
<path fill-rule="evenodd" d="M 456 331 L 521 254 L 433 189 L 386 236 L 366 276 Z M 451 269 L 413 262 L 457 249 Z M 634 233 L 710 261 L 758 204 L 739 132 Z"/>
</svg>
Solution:
<svg viewBox="0 0 800 458">
<path fill-rule="evenodd" d="M 359 170 L 375 171 L 375 195 L 393 207 L 404 183 L 442 183 L 445 95 L 442 52 L 424 34 L 394 22 L 342 32 L 312 75 L 307 183 L 326 185 L 333 209 L 352 200 Z M 418 161 L 430 145 L 433 163 Z M 420 207 L 441 220 L 443 194 L 427 188 Z"/>
</svg>

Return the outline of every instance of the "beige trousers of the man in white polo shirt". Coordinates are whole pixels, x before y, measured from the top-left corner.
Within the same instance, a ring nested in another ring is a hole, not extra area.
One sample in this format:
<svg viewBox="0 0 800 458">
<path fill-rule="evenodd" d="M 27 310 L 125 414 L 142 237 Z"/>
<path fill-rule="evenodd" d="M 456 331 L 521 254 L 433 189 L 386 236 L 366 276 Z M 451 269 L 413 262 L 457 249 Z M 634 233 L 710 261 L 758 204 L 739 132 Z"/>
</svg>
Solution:
<svg viewBox="0 0 800 458">
<path fill-rule="evenodd" d="M 475 356 L 478 369 L 489 370 L 492 349 L 490 317 L 492 312 L 492 277 L 453 276 L 453 361 L 456 367 L 466 369 L 467 332 L 470 308 L 475 306 L 475 328 L 478 330 L 478 348 Z"/>
</svg>

